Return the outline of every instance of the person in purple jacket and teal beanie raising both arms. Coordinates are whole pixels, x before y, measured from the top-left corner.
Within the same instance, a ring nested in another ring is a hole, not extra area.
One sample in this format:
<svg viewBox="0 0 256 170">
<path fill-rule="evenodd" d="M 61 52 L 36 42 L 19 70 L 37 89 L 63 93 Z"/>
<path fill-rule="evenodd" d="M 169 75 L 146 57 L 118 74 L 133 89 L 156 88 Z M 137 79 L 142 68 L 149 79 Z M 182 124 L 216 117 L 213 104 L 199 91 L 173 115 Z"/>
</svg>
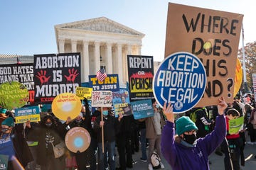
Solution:
<svg viewBox="0 0 256 170">
<path fill-rule="evenodd" d="M 161 135 L 161 152 L 171 165 L 172 169 L 210 169 L 208 156 L 223 142 L 225 138 L 224 111 L 228 107 L 223 97 L 219 98 L 218 116 L 213 132 L 206 137 L 196 140 L 195 123 L 182 116 L 176 120 L 176 133 L 174 130 L 174 112 L 171 102 L 164 103 L 166 125 Z"/>
</svg>

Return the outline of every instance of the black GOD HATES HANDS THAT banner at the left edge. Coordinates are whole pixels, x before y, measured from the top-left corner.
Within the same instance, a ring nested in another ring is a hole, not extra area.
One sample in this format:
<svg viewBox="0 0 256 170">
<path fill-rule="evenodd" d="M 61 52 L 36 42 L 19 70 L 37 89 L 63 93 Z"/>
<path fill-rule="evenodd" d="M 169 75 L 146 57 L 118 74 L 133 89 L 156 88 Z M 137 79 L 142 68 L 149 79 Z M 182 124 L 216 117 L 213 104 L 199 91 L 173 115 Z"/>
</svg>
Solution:
<svg viewBox="0 0 256 170">
<path fill-rule="evenodd" d="M 34 102 L 33 63 L 0 65 L 0 84 L 7 81 L 18 81 L 26 86 L 29 102 Z"/>
</svg>

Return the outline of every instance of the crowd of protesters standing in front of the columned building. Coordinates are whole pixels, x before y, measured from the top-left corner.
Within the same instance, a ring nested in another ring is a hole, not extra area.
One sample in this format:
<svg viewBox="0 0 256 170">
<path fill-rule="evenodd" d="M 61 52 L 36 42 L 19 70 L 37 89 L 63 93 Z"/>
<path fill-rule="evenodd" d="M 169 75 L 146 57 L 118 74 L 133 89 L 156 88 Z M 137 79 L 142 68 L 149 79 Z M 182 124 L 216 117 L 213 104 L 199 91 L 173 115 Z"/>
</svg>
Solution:
<svg viewBox="0 0 256 170">
<path fill-rule="evenodd" d="M 256 145 L 254 98 L 252 95 L 246 97 L 245 103 L 239 95 L 235 96 L 233 103 L 227 106 L 225 100 L 220 98 L 218 106 L 193 108 L 183 115 L 174 115 L 169 103 L 159 108 L 156 100 L 152 99 L 154 116 L 139 120 L 122 114 L 115 118 L 112 108 L 99 108 L 91 113 L 86 99 L 74 120 L 69 117 L 58 120 L 48 110 L 41 113 L 41 122 L 16 124 L 13 111 L 0 108 L 0 154 L 9 155 L 9 169 L 123 170 L 132 169 L 133 154 L 140 148 L 140 160 L 147 162 L 151 170 L 154 169 L 152 154 L 159 157 L 159 169 L 165 168 L 161 162 L 162 154 L 173 169 L 183 169 L 183 166 L 207 169 L 210 164 L 208 155 L 215 152 L 225 155 L 225 169 L 233 167 L 236 170 L 245 166 L 245 145 Z M 229 120 L 240 117 L 244 117 L 243 127 L 238 133 L 229 134 Z M 223 130 L 220 127 L 224 125 Z M 78 153 L 66 149 L 62 157 L 55 158 L 53 146 L 64 141 L 68 130 L 74 127 L 85 128 L 90 133 L 89 148 Z M 250 140 L 246 141 L 247 135 Z M 192 153 L 197 153 L 197 156 Z M 197 163 L 188 162 L 190 157 L 194 157 Z"/>
</svg>

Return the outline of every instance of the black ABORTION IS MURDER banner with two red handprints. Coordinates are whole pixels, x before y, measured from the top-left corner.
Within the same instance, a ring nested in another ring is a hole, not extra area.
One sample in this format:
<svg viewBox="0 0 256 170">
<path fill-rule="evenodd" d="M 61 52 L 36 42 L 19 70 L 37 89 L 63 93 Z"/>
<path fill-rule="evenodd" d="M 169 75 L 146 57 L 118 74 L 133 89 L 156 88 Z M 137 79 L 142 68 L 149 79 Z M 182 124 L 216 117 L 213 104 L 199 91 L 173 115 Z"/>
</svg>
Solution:
<svg viewBox="0 0 256 170">
<path fill-rule="evenodd" d="M 51 103 L 81 86 L 80 53 L 34 55 L 33 69 L 36 103 Z"/>
</svg>

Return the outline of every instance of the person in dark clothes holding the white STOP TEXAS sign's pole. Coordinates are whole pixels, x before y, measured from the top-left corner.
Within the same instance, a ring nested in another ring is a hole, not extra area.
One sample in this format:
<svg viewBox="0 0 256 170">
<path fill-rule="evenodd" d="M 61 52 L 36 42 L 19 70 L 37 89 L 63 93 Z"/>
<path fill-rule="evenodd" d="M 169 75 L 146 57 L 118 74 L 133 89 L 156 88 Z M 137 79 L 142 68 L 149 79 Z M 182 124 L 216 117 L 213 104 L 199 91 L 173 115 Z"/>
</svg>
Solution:
<svg viewBox="0 0 256 170">
<path fill-rule="evenodd" d="M 122 114 L 119 114 L 118 118 L 114 118 L 110 115 L 110 109 L 107 107 L 102 108 L 103 120 L 101 116 L 98 116 L 94 123 L 94 130 L 97 133 L 97 143 L 98 143 L 98 156 L 99 164 L 98 169 L 104 170 L 107 169 L 107 157 L 110 162 L 110 170 L 115 170 L 115 160 L 114 160 L 114 151 L 115 151 L 115 140 L 116 133 L 119 130 L 119 122 L 123 118 Z M 102 127 L 104 127 L 104 151 L 102 152 Z"/>
</svg>

